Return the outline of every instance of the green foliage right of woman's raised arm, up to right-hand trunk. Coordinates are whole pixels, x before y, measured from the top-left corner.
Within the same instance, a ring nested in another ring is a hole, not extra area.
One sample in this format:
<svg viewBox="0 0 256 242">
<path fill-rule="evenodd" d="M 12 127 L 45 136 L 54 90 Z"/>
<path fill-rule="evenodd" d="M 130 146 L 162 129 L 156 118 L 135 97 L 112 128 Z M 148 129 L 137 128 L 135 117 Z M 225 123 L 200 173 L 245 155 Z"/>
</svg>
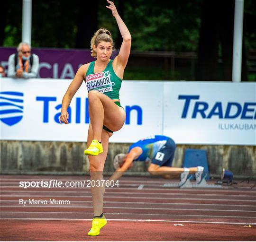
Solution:
<svg viewBox="0 0 256 242">
<path fill-rule="evenodd" d="M 126 2 L 125 21 L 139 51 L 195 51 L 201 0 Z"/>
</svg>

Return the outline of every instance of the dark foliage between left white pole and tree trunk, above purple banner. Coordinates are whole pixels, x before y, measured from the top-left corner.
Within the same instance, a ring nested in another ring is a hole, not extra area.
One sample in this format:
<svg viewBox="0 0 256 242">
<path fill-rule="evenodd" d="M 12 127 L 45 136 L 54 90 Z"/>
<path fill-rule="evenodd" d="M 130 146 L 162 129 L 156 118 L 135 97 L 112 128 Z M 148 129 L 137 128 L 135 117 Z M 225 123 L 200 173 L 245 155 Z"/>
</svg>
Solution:
<svg viewBox="0 0 256 242">
<path fill-rule="evenodd" d="M 33 1 L 32 46 L 73 48 L 78 8 L 65 1 Z"/>
</svg>

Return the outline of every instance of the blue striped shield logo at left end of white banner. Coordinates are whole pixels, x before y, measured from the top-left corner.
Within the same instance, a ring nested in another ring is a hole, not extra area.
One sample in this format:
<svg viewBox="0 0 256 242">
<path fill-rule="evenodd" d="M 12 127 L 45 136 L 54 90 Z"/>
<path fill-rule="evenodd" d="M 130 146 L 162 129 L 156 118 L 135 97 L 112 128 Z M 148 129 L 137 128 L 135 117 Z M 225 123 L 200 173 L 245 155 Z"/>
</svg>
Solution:
<svg viewBox="0 0 256 242">
<path fill-rule="evenodd" d="M 12 126 L 23 118 L 23 93 L 0 92 L 0 121 Z"/>
</svg>

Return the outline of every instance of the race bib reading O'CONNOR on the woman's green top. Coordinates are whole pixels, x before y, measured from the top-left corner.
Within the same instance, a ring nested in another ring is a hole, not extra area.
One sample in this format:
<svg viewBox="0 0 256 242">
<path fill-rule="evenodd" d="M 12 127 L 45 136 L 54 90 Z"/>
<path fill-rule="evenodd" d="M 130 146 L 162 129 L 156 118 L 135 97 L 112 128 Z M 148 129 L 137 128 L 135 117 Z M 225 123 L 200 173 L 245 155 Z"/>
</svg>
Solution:
<svg viewBox="0 0 256 242">
<path fill-rule="evenodd" d="M 103 71 L 86 77 L 86 87 L 88 92 L 91 90 L 99 91 L 101 93 L 110 92 L 113 90 L 110 71 Z"/>
</svg>

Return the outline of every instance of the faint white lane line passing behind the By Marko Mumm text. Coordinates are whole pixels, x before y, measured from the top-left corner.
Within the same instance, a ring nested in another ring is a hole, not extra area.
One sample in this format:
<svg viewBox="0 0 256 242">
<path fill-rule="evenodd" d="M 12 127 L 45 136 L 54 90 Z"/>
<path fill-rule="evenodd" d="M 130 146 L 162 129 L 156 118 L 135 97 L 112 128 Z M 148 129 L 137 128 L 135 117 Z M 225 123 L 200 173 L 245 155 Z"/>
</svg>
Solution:
<svg viewBox="0 0 256 242">
<path fill-rule="evenodd" d="M 0 202 L 17 203 L 18 200 L 0 200 Z M 92 201 L 70 200 L 70 203 L 92 203 Z M 182 205 L 182 206 L 212 206 L 212 207 L 256 207 L 256 205 L 230 205 L 230 204 L 195 204 L 195 203 L 169 203 L 169 202 L 119 202 L 119 201 L 104 201 L 104 203 L 121 203 L 121 204 L 152 204 L 152 205 Z"/>
</svg>

